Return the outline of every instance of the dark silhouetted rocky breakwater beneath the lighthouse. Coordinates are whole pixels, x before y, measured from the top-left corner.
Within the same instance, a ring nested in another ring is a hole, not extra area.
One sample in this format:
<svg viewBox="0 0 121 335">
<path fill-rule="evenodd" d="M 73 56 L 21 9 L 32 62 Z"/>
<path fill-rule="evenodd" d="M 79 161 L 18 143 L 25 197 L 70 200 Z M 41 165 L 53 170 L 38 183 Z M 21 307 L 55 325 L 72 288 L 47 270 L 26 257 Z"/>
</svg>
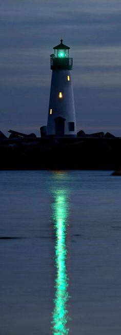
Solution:
<svg viewBox="0 0 121 335">
<path fill-rule="evenodd" d="M 107 133 L 69 138 L 37 138 L 0 133 L 1 170 L 118 170 L 121 138 Z"/>
</svg>

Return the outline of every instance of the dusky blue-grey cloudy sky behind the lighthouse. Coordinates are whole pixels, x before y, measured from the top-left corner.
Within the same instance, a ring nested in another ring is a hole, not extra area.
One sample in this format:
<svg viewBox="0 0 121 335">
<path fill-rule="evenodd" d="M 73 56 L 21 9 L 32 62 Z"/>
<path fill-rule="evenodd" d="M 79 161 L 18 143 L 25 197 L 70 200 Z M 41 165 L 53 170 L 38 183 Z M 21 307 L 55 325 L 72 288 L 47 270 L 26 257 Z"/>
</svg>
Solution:
<svg viewBox="0 0 121 335">
<path fill-rule="evenodd" d="M 0 1 L 0 130 L 40 136 L 47 124 L 50 54 L 73 57 L 77 131 L 121 136 L 121 1 Z"/>
</svg>

